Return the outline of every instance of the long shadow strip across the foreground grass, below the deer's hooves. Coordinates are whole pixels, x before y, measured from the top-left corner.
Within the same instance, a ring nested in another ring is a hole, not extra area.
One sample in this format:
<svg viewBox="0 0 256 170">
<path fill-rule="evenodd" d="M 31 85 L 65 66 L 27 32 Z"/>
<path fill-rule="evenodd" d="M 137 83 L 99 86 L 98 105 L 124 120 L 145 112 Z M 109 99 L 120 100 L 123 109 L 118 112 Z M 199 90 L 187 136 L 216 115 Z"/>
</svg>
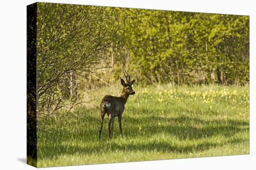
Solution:
<svg viewBox="0 0 256 170">
<path fill-rule="evenodd" d="M 223 143 L 222 145 L 227 144 L 238 144 L 244 142 L 244 139 L 233 139 L 228 142 Z M 214 147 L 220 146 L 215 142 L 202 142 L 197 145 L 170 145 L 164 141 L 156 141 L 154 143 L 145 143 L 145 144 L 134 144 L 129 143 L 126 145 L 114 144 L 106 145 L 106 141 L 99 143 L 101 145 L 93 146 L 93 147 L 79 147 L 79 146 L 66 146 L 66 145 L 58 145 L 51 146 L 48 145 L 42 149 L 46 151 L 51 151 L 43 155 L 43 158 L 52 158 L 55 156 L 59 156 L 62 154 L 73 155 L 73 154 L 91 154 L 98 153 L 101 154 L 103 152 L 115 152 L 115 151 L 159 151 L 159 152 L 180 152 L 180 153 L 189 153 L 189 152 L 200 152 L 208 149 L 212 149 Z M 40 159 L 40 158 L 39 158 Z"/>
</svg>

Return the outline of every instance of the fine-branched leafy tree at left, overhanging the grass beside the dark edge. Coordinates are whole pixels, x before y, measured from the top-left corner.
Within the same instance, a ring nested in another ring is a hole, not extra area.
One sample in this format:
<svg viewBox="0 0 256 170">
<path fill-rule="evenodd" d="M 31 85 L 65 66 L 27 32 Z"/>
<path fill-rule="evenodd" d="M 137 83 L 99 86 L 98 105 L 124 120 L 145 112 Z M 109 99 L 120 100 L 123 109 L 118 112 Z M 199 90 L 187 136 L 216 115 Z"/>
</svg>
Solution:
<svg viewBox="0 0 256 170">
<path fill-rule="evenodd" d="M 90 73 L 106 60 L 100 52 L 122 38 L 118 11 L 110 7 L 38 3 L 37 90 L 39 113 L 74 105 L 70 74 Z M 72 106 L 70 106 L 72 107 Z"/>
</svg>

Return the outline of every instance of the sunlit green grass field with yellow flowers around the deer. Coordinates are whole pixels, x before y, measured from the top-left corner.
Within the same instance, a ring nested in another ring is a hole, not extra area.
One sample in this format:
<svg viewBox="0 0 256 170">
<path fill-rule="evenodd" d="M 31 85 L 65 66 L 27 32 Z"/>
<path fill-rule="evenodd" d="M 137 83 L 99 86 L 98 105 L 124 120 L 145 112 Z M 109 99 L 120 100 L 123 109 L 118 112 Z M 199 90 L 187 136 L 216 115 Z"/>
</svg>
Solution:
<svg viewBox="0 0 256 170">
<path fill-rule="evenodd" d="M 134 86 L 122 117 L 108 138 L 105 117 L 101 140 L 100 101 L 120 95 L 121 86 L 86 91 L 67 116 L 39 119 L 38 167 L 249 154 L 249 87 Z"/>
</svg>

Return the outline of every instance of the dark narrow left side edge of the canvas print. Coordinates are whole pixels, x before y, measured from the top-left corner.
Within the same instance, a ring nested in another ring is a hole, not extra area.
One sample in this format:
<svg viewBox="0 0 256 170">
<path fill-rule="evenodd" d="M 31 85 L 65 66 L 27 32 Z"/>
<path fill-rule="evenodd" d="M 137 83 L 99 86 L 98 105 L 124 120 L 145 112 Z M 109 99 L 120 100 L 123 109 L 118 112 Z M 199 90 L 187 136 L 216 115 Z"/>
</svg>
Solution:
<svg viewBox="0 0 256 170">
<path fill-rule="evenodd" d="M 37 167 L 37 2 L 27 5 L 27 164 Z"/>
</svg>

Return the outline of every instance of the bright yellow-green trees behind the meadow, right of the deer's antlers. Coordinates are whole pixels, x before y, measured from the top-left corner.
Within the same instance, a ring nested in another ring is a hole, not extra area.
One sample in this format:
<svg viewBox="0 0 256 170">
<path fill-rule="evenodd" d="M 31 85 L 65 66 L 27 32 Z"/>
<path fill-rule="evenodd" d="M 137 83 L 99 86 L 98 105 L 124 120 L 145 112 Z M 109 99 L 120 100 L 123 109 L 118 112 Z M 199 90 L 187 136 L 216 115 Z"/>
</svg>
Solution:
<svg viewBox="0 0 256 170">
<path fill-rule="evenodd" d="M 249 82 L 248 16 L 138 9 L 128 15 L 132 61 L 149 83 Z"/>
</svg>

